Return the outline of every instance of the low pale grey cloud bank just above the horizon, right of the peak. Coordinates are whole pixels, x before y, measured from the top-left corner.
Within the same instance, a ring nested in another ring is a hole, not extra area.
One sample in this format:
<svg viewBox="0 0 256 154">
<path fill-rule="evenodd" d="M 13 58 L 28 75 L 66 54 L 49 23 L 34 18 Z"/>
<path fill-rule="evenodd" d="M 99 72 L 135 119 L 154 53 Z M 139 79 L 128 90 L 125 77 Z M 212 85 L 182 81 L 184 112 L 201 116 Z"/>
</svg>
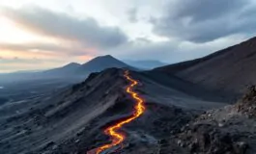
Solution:
<svg viewBox="0 0 256 154">
<path fill-rule="evenodd" d="M 206 56 L 220 49 L 240 43 L 244 38 L 242 36 L 230 36 L 205 43 L 194 43 L 180 39 L 159 42 L 145 40 L 147 39 L 135 39 L 111 52 L 115 53 L 120 59 L 159 60 L 173 64 Z"/>
</svg>

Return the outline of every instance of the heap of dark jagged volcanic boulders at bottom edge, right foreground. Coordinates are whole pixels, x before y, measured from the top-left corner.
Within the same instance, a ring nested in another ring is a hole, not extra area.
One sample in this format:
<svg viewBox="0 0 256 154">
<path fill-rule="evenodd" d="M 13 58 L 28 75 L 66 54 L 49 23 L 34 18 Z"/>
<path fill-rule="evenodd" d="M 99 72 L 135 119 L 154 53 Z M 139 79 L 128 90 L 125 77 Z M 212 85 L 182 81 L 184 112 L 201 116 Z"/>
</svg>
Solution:
<svg viewBox="0 0 256 154">
<path fill-rule="evenodd" d="M 194 124 L 179 135 L 180 145 L 188 147 L 190 153 L 245 154 L 248 146 L 237 141 L 234 134 L 222 132 L 211 124 Z"/>
</svg>

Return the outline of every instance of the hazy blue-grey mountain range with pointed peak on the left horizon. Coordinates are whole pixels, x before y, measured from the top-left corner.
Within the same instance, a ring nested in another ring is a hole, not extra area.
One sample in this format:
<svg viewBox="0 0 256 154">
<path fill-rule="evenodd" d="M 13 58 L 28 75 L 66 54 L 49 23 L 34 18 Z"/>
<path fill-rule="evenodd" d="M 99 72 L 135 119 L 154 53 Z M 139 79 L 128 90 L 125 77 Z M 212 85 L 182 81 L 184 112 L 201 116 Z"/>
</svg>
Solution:
<svg viewBox="0 0 256 154">
<path fill-rule="evenodd" d="M 19 80 L 38 80 L 51 78 L 79 78 L 84 79 L 92 72 L 100 72 L 106 68 L 129 68 L 136 69 L 128 64 L 125 64 L 110 55 L 97 57 L 85 64 L 71 63 L 62 67 L 53 68 L 43 71 L 32 72 L 15 72 L 8 74 L 0 74 L 0 81 L 19 81 Z"/>
</svg>

